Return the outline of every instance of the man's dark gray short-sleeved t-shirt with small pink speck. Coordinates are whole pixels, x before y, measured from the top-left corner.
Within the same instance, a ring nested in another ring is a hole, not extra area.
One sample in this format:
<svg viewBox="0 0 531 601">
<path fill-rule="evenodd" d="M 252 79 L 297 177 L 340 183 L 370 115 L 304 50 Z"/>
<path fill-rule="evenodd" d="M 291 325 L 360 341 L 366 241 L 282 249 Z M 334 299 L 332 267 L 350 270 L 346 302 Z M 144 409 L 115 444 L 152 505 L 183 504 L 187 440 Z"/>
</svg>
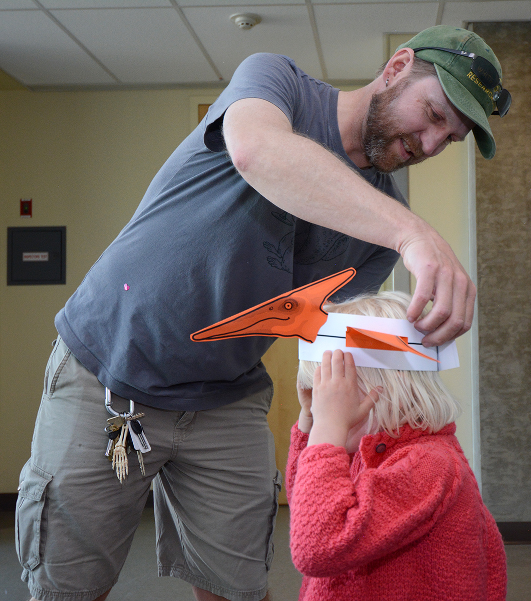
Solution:
<svg viewBox="0 0 531 601">
<path fill-rule="evenodd" d="M 396 252 L 278 209 L 224 148 L 227 108 L 260 98 L 355 168 L 341 144 L 338 93 L 286 56 L 250 56 L 162 166 L 55 319 L 73 354 L 115 394 L 174 410 L 232 403 L 269 385 L 260 358 L 274 338 L 192 342 L 192 332 L 346 267 L 357 275 L 336 298 L 376 291 L 387 278 Z M 406 204 L 391 175 L 360 173 Z"/>
</svg>

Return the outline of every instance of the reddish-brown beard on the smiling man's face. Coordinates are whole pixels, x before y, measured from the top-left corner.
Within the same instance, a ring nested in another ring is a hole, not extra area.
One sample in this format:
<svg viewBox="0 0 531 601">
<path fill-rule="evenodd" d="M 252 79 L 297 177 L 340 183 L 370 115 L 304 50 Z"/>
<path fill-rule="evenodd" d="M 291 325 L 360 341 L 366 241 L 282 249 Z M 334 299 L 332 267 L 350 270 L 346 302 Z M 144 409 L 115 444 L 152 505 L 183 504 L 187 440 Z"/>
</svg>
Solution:
<svg viewBox="0 0 531 601">
<path fill-rule="evenodd" d="M 427 158 L 417 136 L 396 129 L 397 119 L 394 116 L 393 104 L 407 85 L 407 81 L 399 82 L 392 88 L 373 94 L 370 99 L 361 133 L 361 142 L 369 163 L 382 173 L 391 173 L 402 167 L 420 163 Z M 402 144 L 402 140 L 406 142 L 413 156 L 404 160 L 391 152 L 391 145 L 397 139 L 400 144 Z"/>
</svg>

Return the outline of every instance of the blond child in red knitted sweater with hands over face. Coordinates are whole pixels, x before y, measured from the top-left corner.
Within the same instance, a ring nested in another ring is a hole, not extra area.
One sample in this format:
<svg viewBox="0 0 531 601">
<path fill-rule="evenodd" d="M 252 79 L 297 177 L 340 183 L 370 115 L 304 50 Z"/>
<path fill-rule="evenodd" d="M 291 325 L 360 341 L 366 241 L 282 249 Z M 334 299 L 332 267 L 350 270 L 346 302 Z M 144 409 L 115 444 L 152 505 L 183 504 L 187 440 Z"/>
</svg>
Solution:
<svg viewBox="0 0 531 601">
<path fill-rule="evenodd" d="M 325 309 L 405 319 L 410 300 Z M 299 601 L 505 600 L 502 538 L 438 373 L 356 368 L 335 350 L 301 361 L 297 388 L 286 489 Z"/>
</svg>

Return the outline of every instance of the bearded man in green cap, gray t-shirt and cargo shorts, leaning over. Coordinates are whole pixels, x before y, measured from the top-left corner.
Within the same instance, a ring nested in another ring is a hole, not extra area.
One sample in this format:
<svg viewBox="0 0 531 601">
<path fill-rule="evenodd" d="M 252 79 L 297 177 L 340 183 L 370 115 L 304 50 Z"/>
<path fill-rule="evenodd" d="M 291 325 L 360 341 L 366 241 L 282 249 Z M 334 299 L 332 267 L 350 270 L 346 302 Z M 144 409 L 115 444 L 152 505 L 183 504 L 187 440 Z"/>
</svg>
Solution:
<svg viewBox="0 0 531 601">
<path fill-rule="evenodd" d="M 461 51 L 487 56 L 486 75 Z M 345 267 L 357 275 L 336 297 L 377 290 L 397 253 L 417 278 L 408 318 L 434 300 L 416 324 L 426 346 L 466 332 L 474 285 L 389 173 L 471 129 L 494 156 L 498 74 L 483 40 L 446 26 L 352 92 L 283 56 L 242 63 L 56 318 L 17 507 L 34 599 L 105 599 L 152 481 L 159 574 L 198 600 L 267 599 L 280 478 L 260 358 L 272 339 L 189 335 Z M 120 481 L 104 456 L 105 398 L 120 413 L 136 403 L 151 445 Z"/>
</svg>

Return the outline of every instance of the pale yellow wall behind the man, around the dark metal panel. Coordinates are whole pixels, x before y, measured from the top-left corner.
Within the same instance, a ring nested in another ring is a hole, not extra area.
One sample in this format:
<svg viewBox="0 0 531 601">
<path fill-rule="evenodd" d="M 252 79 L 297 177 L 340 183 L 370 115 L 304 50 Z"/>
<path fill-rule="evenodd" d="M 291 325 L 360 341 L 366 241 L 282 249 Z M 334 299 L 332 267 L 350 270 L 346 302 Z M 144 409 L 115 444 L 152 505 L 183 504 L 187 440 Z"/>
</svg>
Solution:
<svg viewBox="0 0 531 601">
<path fill-rule="evenodd" d="M 218 93 L 0 92 L 0 493 L 16 491 L 20 468 L 29 456 L 43 372 L 56 335 L 55 314 L 129 220 L 153 175 L 197 123 L 197 105 L 212 102 Z M 429 215 L 465 264 L 466 155 L 461 144 L 410 174 L 414 210 Z M 32 219 L 20 218 L 20 198 L 32 198 Z M 66 225 L 66 285 L 6 285 L 7 227 L 28 225 Z M 467 401 L 470 344 L 462 340 L 459 346 L 464 367 L 445 377 Z M 281 469 L 299 410 L 296 348 L 294 340 L 277 341 L 264 358 L 275 380 L 269 423 Z M 465 415 L 459 436 L 468 457 L 470 431 Z"/>
</svg>

